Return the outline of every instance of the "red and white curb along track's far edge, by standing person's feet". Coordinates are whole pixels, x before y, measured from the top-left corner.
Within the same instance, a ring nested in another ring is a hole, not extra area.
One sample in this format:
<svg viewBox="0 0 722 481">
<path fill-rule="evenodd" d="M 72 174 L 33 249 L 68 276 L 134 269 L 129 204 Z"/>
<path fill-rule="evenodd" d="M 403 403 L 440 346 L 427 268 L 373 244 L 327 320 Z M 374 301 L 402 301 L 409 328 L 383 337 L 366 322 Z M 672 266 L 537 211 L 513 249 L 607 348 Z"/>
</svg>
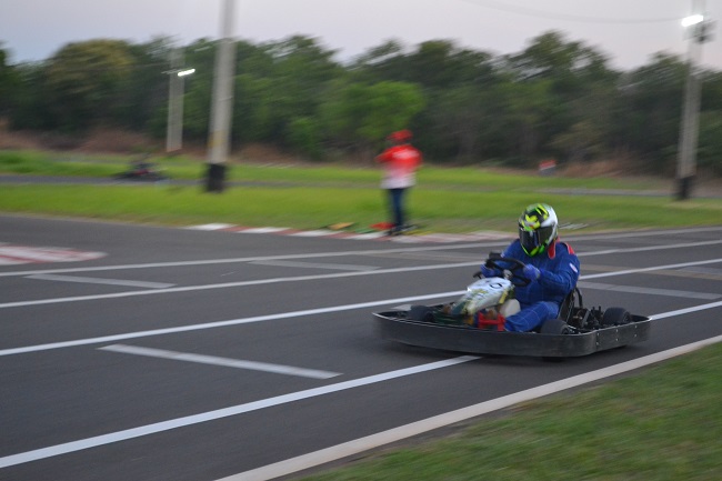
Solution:
<svg viewBox="0 0 722 481">
<path fill-rule="evenodd" d="M 469 234 L 448 234 L 448 233 L 428 233 L 411 236 L 387 236 L 384 232 L 343 232 L 330 229 L 318 230 L 298 230 L 283 227 L 240 227 L 230 223 L 207 223 L 201 226 L 190 226 L 185 229 L 203 231 L 224 231 L 237 233 L 255 233 L 255 234 L 279 234 L 305 238 L 331 238 L 331 239 L 351 239 L 351 240 L 383 240 L 401 243 L 423 243 L 423 242 L 475 242 L 475 241 L 495 241 L 511 240 L 513 236 L 504 232 L 473 232 Z"/>
</svg>

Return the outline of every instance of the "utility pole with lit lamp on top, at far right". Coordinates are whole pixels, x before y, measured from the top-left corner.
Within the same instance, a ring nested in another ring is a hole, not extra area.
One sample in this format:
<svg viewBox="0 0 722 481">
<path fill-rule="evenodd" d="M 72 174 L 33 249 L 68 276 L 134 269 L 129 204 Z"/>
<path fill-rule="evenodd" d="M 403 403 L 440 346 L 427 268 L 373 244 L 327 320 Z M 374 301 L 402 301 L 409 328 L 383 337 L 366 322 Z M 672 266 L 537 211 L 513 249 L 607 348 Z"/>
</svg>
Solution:
<svg viewBox="0 0 722 481">
<path fill-rule="evenodd" d="M 689 47 L 686 81 L 684 84 L 684 108 L 680 126 L 680 146 L 676 163 L 678 200 L 690 198 L 692 181 L 696 173 L 701 93 L 699 63 L 702 53 L 702 43 L 711 40 L 712 31 L 712 22 L 704 18 L 704 0 L 692 0 L 692 14 L 682 20 L 682 26 L 689 29 Z"/>
</svg>

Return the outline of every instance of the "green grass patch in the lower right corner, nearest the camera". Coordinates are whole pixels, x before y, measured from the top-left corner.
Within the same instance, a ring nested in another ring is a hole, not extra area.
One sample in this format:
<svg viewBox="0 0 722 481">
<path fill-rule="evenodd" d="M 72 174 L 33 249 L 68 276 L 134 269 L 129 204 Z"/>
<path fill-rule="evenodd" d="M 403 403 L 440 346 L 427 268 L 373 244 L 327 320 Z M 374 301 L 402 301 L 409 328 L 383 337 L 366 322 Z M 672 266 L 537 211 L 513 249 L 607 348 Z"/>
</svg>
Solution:
<svg viewBox="0 0 722 481">
<path fill-rule="evenodd" d="M 303 480 L 719 480 L 720 377 L 715 344 Z"/>
</svg>

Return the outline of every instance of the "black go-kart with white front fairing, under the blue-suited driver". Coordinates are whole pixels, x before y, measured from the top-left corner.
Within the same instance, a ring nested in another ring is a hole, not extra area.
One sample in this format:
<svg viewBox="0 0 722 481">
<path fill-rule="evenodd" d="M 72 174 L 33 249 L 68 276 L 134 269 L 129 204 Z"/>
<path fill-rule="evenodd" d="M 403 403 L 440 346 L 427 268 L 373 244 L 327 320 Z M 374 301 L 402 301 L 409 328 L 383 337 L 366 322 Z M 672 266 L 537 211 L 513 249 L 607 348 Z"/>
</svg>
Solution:
<svg viewBox="0 0 722 481">
<path fill-rule="evenodd" d="M 649 338 L 649 318 L 623 308 L 585 308 L 579 288 L 566 295 L 556 319 L 530 332 L 508 332 L 505 318 L 520 310 L 514 290 L 531 281 L 523 275 L 524 263 L 518 259 L 492 252 L 485 264 L 503 274 L 483 278 L 477 272 L 479 280 L 454 302 L 374 312 L 378 333 L 422 348 L 545 359 L 588 355 Z"/>
</svg>

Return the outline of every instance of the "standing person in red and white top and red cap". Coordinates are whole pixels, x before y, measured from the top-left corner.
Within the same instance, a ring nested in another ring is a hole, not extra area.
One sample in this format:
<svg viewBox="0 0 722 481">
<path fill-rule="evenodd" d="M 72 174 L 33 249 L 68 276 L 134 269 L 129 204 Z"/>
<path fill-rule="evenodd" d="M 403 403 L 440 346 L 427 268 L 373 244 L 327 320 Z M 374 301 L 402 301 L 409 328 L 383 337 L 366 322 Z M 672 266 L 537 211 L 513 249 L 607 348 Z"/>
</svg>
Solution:
<svg viewBox="0 0 722 481">
<path fill-rule="evenodd" d="M 384 168 L 381 188 L 389 193 L 391 228 L 389 236 L 399 236 L 409 227 L 405 221 L 404 197 L 417 183 L 417 169 L 421 166 L 421 152 L 411 146 L 410 130 L 399 130 L 387 137 L 391 147 L 377 156 L 377 162 Z"/>
</svg>

